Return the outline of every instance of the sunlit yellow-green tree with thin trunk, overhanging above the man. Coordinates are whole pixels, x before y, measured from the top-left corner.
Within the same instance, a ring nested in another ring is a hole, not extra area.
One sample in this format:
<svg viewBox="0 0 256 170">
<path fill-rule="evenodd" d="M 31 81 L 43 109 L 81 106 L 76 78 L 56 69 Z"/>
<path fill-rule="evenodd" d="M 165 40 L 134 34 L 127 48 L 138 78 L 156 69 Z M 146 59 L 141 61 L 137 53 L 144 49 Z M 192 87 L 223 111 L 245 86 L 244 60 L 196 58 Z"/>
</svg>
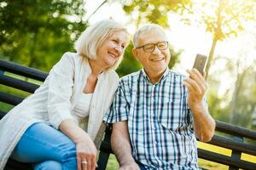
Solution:
<svg viewBox="0 0 256 170">
<path fill-rule="evenodd" d="M 248 20 L 255 20 L 255 0 L 218 0 L 218 1 L 153 1 L 136 0 L 124 5 L 124 10 L 136 20 L 137 26 L 144 22 L 153 22 L 167 27 L 168 14 L 177 13 L 186 24 L 203 24 L 206 31 L 212 33 L 212 47 L 209 52 L 206 72 L 209 68 L 218 41 L 237 36 Z M 195 19 L 195 20 L 194 20 Z"/>
</svg>

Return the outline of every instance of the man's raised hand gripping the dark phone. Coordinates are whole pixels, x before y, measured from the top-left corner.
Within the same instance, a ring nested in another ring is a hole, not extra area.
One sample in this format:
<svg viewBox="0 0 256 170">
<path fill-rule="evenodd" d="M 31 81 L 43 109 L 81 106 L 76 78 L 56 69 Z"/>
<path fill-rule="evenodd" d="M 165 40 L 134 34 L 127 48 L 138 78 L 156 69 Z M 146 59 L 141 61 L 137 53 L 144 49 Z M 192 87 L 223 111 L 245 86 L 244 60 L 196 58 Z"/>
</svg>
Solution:
<svg viewBox="0 0 256 170">
<path fill-rule="evenodd" d="M 203 98 L 207 92 L 206 73 L 203 77 L 196 69 L 187 70 L 187 72 L 189 77 L 183 79 L 183 83 L 189 89 L 188 105 L 192 111 L 197 111 L 203 107 Z"/>
</svg>

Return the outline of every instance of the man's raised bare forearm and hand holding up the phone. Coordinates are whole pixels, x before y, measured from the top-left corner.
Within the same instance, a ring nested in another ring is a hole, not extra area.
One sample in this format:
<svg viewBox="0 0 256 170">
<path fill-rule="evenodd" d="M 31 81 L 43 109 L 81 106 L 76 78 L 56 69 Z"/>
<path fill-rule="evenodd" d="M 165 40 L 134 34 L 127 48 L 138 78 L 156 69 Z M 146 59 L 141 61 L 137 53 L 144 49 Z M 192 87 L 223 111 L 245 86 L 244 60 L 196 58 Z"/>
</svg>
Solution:
<svg viewBox="0 0 256 170">
<path fill-rule="evenodd" d="M 212 139 L 215 121 L 204 105 L 203 98 L 207 92 L 205 78 L 196 69 L 188 71 L 189 77 L 184 79 L 184 85 L 189 89 L 188 105 L 194 118 L 195 136 L 203 142 Z"/>
</svg>

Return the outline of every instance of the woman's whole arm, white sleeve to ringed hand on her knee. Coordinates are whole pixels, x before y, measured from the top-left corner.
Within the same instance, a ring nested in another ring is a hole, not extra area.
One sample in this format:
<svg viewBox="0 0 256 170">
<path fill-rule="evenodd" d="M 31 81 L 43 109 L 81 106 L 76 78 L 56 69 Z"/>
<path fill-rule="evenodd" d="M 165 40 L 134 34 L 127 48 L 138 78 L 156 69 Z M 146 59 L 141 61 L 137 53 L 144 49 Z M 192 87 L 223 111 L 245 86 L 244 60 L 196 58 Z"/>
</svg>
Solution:
<svg viewBox="0 0 256 170">
<path fill-rule="evenodd" d="M 78 169 L 96 168 L 96 146 L 90 136 L 78 126 L 71 114 L 75 63 L 72 53 L 66 53 L 49 73 L 49 122 L 76 144 Z M 87 161 L 82 164 L 82 161 Z"/>
</svg>

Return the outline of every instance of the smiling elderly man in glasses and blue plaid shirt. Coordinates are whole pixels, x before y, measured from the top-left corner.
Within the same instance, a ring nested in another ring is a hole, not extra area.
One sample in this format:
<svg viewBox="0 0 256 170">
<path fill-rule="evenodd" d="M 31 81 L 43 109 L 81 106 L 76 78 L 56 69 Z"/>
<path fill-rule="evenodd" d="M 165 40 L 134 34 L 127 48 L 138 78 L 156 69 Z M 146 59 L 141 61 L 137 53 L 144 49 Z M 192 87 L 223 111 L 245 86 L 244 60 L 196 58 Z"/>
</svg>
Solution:
<svg viewBox="0 0 256 170">
<path fill-rule="evenodd" d="M 104 118 L 113 123 L 119 169 L 199 169 L 195 136 L 209 141 L 215 128 L 204 77 L 196 69 L 187 71 L 189 77 L 169 70 L 171 54 L 160 26 L 143 26 L 133 43 L 143 69 L 120 80 Z"/>
</svg>

